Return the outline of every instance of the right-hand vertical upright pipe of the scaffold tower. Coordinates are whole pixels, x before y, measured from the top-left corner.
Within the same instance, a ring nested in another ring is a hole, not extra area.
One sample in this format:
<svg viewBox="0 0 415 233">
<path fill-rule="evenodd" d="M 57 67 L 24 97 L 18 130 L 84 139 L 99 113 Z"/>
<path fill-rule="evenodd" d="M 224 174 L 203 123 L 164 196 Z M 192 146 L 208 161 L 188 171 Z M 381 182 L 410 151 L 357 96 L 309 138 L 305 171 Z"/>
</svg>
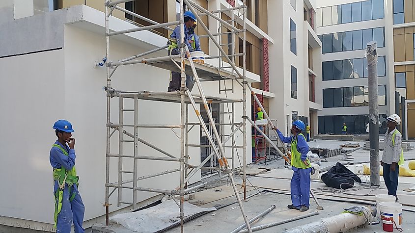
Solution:
<svg viewBox="0 0 415 233">
<path fill-rule="evenodd" d="M 246 6 L 246 0 L 244 0 L 244 6 Z M 233 13 L 232 13 L 233 14 Z M 244 21 L 243 21 L 243 51 L 244 51 L 244 55 L 242 56 L 242 64 L 243 64 L 243 109 L 244 109 L 244 113 L 243 115 L 246 116 L 247 115 L 247 32 L 245 30 L 246 28 L 246 24 L 247 24 L 247 8 L 244 8 Z M 247 200 L 247 119 L 246 117 L 244 117 L 243 119 L 244 122 L 244 126 L 243 126 L 243 134 L 244 134 L 244 165 L 242 167 L 242 171 L 243 171 L 243 177 L 242 177 L 242 185 L 244 188 L 244 200 Z"/>
</svg>

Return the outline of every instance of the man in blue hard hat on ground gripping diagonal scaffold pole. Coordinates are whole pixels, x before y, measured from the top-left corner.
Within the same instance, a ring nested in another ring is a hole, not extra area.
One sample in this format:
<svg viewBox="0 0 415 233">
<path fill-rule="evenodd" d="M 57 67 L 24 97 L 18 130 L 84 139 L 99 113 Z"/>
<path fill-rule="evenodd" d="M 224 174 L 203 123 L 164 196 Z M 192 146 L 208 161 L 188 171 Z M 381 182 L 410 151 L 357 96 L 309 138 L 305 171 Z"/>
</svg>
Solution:
<svg viewBox="0 0 415 233">
<path fill-rule="evenodd" d="M 294 171 L 291 178 L 291 202 L 289 209 L 307 211 L 310 203 L 310 173 L 311 164 L 307 158 L 309 151 L 304 135 L 303 121 L 295 121 L 291 128 L 293 136 L 284 137 L 279 129 L 274 128 L 279 139 L 284 143 L 291 143 L 291 169 Z"/>
</svg>

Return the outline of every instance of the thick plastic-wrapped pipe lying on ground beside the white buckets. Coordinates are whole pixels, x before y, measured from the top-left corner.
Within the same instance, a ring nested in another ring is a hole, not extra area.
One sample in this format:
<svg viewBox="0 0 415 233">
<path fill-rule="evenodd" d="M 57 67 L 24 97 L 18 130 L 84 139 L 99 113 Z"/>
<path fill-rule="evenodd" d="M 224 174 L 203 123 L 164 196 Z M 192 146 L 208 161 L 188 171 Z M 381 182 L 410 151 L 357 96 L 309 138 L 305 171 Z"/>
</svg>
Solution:
<svg viewBox="0 0 415 233">
<path fill-rule="evenodd" d="M 305 224 L 283 233 L 316 233 L 330 232 L 340 233 L 347 232 L 355 227 L 362 226 L 372 221 L 372 213 L 376 211 L 376 207 L 363 207 L 365 211 L 362 215 L 353 213 L 341 213 L 330 218 L 324 218 L 320 221 Z"/>
</svg>

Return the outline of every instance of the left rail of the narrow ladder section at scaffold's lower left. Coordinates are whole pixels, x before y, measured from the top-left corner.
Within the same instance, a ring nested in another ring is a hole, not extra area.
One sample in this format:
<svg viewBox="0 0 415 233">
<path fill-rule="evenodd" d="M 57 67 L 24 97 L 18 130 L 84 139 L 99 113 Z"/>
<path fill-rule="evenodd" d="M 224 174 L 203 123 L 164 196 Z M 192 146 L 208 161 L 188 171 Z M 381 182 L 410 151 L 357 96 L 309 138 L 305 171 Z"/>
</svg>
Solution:
<svg viewBox="0 0 415 233">
<path fill-rule="evenodd" d="M 119 119 L 118 119 L 118 197 L 117 197 L 117 207 L 121 206 L 121 198 L 122 198 L 122 155 L 123 155 L 123 137 L 124 137 L 124 98 L 122 96 L 119 97 Z M 133 177 L 134 178 L 134 177 Z"/>
</svg>

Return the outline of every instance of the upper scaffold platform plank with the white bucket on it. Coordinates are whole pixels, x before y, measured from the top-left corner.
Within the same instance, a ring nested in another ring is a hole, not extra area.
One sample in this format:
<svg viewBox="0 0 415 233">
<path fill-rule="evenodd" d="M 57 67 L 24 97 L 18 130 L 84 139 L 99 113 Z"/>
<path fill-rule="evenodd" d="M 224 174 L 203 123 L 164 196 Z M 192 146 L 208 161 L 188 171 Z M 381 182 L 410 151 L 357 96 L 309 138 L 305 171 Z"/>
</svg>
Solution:
<svg viewBox="0 0 415 233">
<path fill-rule="evenodd" d="M 180 59 L 174 60 L 177 62 L 177 64 L 180 65 Z M 169 71 L 180 72 L 179 67 L 177 67 L 177 65 L 174 64 L 172 61 L 147 62 L 146 64 Z M 194 62 L 194 67 L 196 68 L 197 75 L 202 81 L 217 81 L 223 79 L 239 78 L 239 76 L 236 74 L 232 74 L 229 71 L 219 70 L 219 68 L 208 64 L 200 64 Z M 187 59 L 185 59 L 185 70 L 187 75 L 193 76 L 190 62 Z"/>
</svg>

